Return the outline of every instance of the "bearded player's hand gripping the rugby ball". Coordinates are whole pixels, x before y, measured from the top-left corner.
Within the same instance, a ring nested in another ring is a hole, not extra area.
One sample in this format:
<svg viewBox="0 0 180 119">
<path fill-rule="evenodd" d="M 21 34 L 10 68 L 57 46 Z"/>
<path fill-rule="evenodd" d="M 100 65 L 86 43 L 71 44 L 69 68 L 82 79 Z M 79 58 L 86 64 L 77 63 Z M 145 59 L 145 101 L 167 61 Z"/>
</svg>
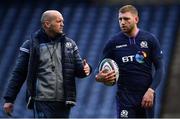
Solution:
<svg viewBox="0 0 180 119">
<path fill-rule="evenodd" d="M 107 72 L 106 69 L 101 70 L 96 75 L 96 81 L 98 82 L 106 82 L 106 83 L 112 83 L 116 80 L 116 73 L 114 70 Z"/>
</svg>

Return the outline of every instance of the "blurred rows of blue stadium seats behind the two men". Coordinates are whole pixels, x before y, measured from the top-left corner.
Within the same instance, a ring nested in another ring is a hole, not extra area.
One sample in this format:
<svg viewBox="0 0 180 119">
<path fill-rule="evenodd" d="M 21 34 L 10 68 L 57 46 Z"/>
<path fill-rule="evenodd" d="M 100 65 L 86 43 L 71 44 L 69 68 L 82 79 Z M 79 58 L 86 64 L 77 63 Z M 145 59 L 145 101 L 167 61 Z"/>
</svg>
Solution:
<svg viewBox="0 0 180 119">
<path fill-rule="evenodd" d="M 15 64 L 18 48 L 40 27 L 41 14 L 59 10 L 65 20 L 65 33 L 76 41 L 83 58 L 96 67 L 104 43 L 119 31 L 118 9 L 135 5 L 140 13 L 139 27 L 160 40 L 166 76 L 157 89 L 156 117 L 180 117 L 180 0 L 2 0 L 0 4 L 0 117 L 3 94 Z M 32 117 L 26 109 L 24 85 L 14 106 L 14 117 Z M 116 87 L 95 82 L 94 75 L 77 80 L 74 118 L 114 118 Z"/>
</svg>

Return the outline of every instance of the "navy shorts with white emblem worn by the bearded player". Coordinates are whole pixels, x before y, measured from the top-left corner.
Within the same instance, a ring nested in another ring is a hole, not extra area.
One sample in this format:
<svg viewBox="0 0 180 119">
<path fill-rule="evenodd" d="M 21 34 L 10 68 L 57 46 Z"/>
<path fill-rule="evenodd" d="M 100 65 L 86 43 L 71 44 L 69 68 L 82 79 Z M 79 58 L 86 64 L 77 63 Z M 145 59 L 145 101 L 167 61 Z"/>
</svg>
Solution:
<svg viewBox="0 0 180 119">
<path fill-rule="evenodd" d="M 141 107 L 144 94 L 130 93 L 126 90 L 118 91 L 116 96 L 118 118 L 153 118 L 154 107 L 145 109 Z"/>
</svg>

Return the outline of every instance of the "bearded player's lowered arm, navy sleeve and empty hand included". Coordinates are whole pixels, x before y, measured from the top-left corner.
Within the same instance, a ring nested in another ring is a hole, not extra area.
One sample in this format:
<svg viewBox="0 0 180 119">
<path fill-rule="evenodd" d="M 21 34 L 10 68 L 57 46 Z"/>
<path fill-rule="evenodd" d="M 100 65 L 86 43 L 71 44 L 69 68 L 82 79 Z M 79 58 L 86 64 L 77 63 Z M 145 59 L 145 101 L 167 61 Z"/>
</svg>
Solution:
<svg viewBox="0 0 180 119">
<path fill-rule="evenodd" d="M 152 63 L 155 67 L 155 75 L 150 87 L 143 96 L 142 107 L 144 108 L 151 108 L 153 106 L 155 90 L 164 76 L 163 54 L 160 48 L 160 43 L 156 37 L 153 37 L 152 39 Z"/>
</svg>

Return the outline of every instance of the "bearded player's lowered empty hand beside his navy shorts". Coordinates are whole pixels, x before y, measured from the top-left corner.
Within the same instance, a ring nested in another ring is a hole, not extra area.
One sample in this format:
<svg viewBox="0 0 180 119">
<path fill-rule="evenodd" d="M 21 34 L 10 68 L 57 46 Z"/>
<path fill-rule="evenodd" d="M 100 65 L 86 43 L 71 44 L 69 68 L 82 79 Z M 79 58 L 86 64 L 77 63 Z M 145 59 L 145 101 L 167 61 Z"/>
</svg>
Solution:
<svg viewBox="0 0 180 119">
<path fill-rule="evenodd" d="M 141 106 L 143 108 L 151 108 L 154 103 L 154 90 L 149 88 L 143 96 Z"/>
</svg>

